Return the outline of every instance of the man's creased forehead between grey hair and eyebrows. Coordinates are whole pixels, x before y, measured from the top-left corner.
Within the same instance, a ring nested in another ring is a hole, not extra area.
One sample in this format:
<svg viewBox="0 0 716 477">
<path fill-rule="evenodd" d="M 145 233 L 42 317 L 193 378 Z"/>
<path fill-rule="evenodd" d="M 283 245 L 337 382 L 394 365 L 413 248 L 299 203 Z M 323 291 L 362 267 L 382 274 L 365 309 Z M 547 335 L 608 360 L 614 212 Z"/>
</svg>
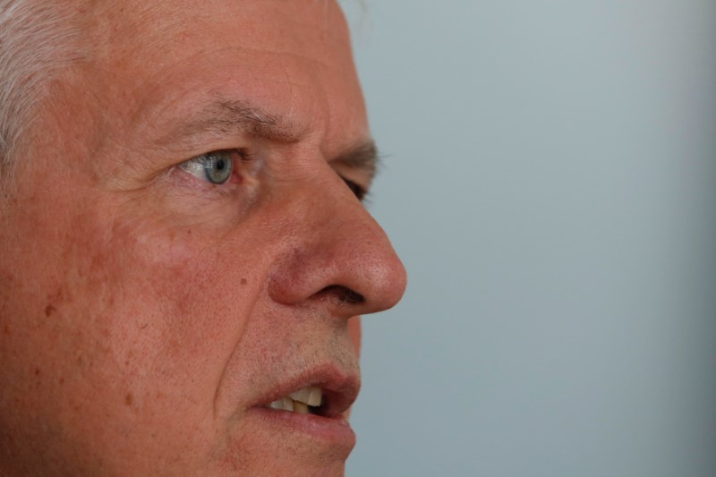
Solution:
<svg viewBox="0 0 716 477">
<path fill-rule="evenodd" d="M 250 102 L 324 140 L 367 135 L 345 20 L 332 0 L 96 1 L 79 13 L 91 48 L 88 86 L 125 125 L 159 127 L 220 98 Z"/>
</svg>

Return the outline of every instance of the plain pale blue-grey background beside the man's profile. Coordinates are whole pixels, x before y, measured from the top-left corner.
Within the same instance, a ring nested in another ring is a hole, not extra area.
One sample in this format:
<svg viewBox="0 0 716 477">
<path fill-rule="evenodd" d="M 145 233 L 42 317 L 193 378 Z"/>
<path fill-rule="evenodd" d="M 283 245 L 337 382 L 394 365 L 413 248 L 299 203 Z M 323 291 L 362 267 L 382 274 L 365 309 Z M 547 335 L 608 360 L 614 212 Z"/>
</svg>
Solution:
<svg viewBox="0 0 716 477">
<path fill-rule="evenodd" d="M 347 474 L 716 475 L 716 1 L 343 3 L 409 273 Z"/>
</svg>

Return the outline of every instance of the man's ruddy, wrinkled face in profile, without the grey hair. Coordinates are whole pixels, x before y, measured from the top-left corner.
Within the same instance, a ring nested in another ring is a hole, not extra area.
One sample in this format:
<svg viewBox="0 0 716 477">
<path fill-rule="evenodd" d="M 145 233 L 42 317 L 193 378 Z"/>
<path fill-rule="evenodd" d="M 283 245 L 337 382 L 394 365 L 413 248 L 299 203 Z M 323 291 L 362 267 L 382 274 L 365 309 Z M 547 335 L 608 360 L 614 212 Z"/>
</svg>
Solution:
<svg viewBox="0 0 716 477">
<path fill-rule="evenodd" d="M 405 271 L 354 194 L 373 158 L 337 5 L 76 18 L 87 50 L 0 205 L 0 473 L 342 472 L 351 317 Z"/>
</svg>

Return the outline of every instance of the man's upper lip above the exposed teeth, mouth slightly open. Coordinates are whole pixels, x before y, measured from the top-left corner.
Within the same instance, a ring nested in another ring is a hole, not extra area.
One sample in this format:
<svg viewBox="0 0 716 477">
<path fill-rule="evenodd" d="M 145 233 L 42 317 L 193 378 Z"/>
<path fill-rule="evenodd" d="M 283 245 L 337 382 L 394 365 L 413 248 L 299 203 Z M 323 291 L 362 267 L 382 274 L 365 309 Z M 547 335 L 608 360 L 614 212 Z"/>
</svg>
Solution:
<svg viewBox="0 0 716 477">
<path fill-rule="evenodd" d="M 336 418 L 342 416 L 355 402 L 361 388 L 361 378 L 358 371 L 342 370 L 333 364 L 312 367 L 283 379 L 276 387 L 260 396 L 257 405 L 268 406 L 281 397 L 310 386 L 323 391 L 320 415 Z"/>
</svg>

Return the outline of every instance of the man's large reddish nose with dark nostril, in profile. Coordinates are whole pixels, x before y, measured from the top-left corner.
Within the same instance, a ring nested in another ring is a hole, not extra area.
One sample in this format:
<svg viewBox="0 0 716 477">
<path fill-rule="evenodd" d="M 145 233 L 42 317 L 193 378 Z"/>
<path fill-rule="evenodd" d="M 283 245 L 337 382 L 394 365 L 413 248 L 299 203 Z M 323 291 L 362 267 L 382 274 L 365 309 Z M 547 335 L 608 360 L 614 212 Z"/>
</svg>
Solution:
<svg viewBox="0 0 716 477">
<path fill-rule="evenodd" d="M 405 268 L 343 180 L 325 163 L 320 169 L 292 188 L 283 211 L 284 253 L 270 273 L 269 294 L 345 318 L 387 310 L 405 292 Z"/>
</svg>

